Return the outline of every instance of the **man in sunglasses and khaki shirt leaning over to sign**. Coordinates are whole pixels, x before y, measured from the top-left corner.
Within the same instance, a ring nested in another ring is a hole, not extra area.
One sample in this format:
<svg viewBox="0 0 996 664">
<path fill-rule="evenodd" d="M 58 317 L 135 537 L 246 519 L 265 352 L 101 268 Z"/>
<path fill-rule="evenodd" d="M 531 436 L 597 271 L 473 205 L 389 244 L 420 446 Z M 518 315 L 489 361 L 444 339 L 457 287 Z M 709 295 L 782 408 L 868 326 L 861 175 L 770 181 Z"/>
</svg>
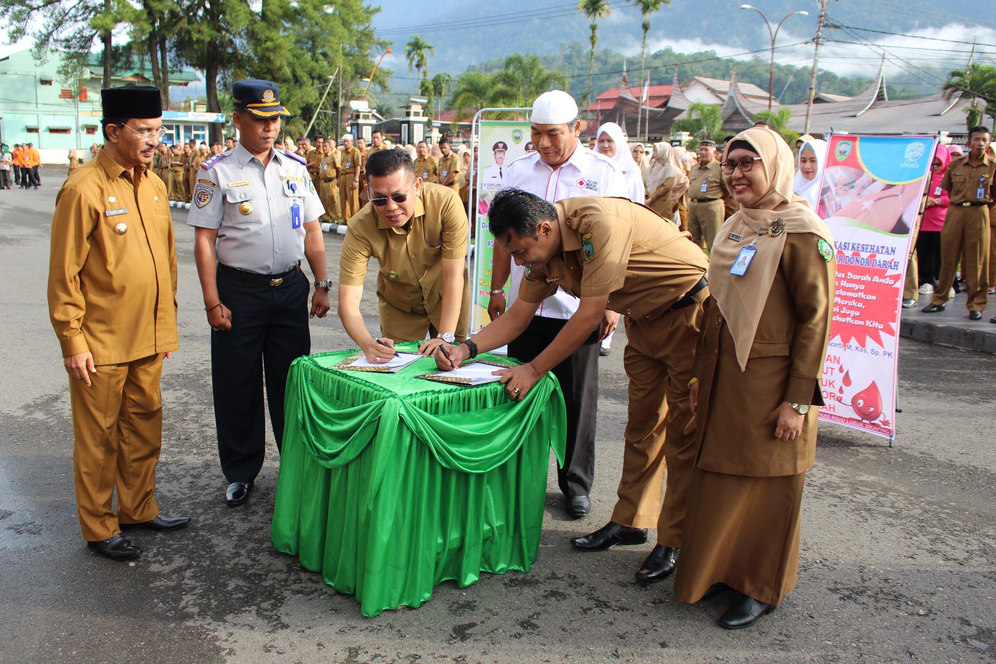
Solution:
<svg viewBox="0 0 996 664">
<path fill-rule="evenodd" d="M 380 150 L 367 161 L 371 202 L 350 220 L 339 263 L 339 318 L 371 362 L 394 342 L 429 340 L 418 351 L 462 340 L 470 324 L 467 213 L 449 187 L 416 177 L 407 152 Z M 375 258 L 380 332 L 360 313 L 367 265 Z"/>
</svg>

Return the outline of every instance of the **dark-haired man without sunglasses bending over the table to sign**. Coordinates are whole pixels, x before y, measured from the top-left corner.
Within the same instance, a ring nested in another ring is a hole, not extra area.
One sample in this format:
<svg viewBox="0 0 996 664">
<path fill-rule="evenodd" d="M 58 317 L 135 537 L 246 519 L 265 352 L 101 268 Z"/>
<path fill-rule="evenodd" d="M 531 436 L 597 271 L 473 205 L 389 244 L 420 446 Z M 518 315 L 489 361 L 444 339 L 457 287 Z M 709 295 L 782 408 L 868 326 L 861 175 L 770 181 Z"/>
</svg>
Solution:
<svg viewBox="0 0 996 664">
<path fill-rule="evenodd" d="M 629 386 L 619 501 L 609 524 L 572 543 L 601 552 L 642 544 L 646 529 L 656 527 L 657 546 L 636 579 L 666 578 L 681 546 L 695 460 L 688 381 L 702 303 L 709 297 L 705 255 L 688 233 L 623 198 L 550 203 L 521 189 L 504 189 L 495 196 L 488 221 L 495 244 L 525 266 L 526 274 L 508 312 L 472 340 L 447 348 L 449 357 L 459 363 L 511 341 L 558 287 L 579 298 L 577 312 L 533 361 L 495 371 L 518 400 L 599 327 L 607 309 L 622 314 Z M 441 352 L 436 363 L 452 368 Z"/>
</svg>

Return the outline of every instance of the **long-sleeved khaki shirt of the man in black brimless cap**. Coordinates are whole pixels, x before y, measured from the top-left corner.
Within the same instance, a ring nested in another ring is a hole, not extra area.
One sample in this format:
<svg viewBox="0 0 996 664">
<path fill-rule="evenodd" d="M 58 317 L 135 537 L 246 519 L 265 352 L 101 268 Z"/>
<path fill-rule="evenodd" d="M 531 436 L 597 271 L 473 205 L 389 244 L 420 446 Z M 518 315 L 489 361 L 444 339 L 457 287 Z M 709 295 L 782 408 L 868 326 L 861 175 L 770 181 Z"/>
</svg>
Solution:
<svg viewBox="0 0 996 664">
<path fill-rule="evenodd" d="M 166 187 L 143 166 L 134 173 L 101 150 L 56 196 L 49 317 L 66 357 L 89 350 L 117 364 L 178 347 Z"/>
</svg>

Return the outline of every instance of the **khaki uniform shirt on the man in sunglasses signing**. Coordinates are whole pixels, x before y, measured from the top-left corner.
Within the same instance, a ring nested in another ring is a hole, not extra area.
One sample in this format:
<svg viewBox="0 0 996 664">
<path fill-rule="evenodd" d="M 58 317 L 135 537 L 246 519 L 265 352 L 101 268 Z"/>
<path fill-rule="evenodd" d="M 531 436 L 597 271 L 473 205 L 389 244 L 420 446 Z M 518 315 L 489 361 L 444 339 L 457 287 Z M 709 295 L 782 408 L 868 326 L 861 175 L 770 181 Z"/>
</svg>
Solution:
<svg viewBox="0 0 996 664">
<path fill-rule="evenodd" d="M 442 298 L 441 259 L 465 258 L 467 233 L 467 213 L 449 187 L 423 183 L 406 229 L 391 228 L 368 203 L 350 219 L 339 283 L 363 286 L 373 257 L 381 321 L 390 316 L 385 302 L 402 312 L 429 312 Z"/>
</svg>

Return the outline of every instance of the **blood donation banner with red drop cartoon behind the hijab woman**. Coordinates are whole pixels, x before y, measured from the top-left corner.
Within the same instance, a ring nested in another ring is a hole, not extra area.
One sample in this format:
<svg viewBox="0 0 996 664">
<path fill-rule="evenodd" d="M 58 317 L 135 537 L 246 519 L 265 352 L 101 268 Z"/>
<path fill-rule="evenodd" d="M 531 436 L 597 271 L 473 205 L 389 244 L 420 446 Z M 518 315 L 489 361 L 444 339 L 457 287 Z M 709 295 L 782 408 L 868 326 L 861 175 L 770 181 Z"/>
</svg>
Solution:
<svg viewBox="0 0 996 664">
<path fill-rule="evenodd" d="M 935 136 L 830 135 L 819 214 L 837 291 L 820 420 L 895 438 L 902 285 Z"/>
</svg>

